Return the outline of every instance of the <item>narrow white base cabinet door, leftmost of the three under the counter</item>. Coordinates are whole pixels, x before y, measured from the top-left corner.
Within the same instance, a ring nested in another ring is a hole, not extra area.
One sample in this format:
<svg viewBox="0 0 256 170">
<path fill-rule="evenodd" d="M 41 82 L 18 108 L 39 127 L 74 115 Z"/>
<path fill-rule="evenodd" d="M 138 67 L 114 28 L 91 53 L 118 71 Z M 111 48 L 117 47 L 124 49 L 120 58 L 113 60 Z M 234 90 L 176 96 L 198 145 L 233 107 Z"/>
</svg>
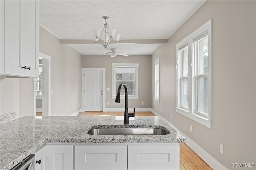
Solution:
<svg viewBox="0 0 256 170">
<path fill-rule="evenodd" d="M 73 145 L 46 145 L 46 170 L 72 170 Z"/>
</svg>

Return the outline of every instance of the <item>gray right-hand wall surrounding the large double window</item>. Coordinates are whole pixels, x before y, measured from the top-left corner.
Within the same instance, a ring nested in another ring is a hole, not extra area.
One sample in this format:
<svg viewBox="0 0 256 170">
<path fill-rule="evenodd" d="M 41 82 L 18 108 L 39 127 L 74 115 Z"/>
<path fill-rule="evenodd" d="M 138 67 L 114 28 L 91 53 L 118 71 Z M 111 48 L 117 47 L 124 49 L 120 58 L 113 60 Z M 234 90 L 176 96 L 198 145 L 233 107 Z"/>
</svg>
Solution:
<svg viewBox="0 0 256 170">
<path fill-rule="evenodd" d="M 175 108 L 176 43 L 210 19 L 213 21 L 211 129 L 177 113 Z M 231 163 L 256 160 L 255 39 L 256 1 L 206 1 L 152 55 L 152 67 L 160 57 L 160 103 L 154 102 L 153 109 L 228 169 L 232 169 Z M 154 83 L 152 99 L 153 92 Z M 224 145 L 224 154 L 220 153 L 220 143 Z"/>
</svg>

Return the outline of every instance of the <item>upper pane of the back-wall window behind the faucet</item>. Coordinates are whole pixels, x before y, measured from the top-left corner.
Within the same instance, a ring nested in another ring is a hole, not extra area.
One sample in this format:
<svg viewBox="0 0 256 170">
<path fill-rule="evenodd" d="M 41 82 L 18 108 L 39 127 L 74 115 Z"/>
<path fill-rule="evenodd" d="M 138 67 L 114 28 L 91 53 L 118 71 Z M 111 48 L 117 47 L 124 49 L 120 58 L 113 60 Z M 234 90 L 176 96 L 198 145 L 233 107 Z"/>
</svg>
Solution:
<svg viewBox="0 0 256 170">
<path fill-rule="evenodd" d="M 135 81 L 135 68 L 134 67 L 116 67 L 116 80 L 134 80 Z"/>
</svg>

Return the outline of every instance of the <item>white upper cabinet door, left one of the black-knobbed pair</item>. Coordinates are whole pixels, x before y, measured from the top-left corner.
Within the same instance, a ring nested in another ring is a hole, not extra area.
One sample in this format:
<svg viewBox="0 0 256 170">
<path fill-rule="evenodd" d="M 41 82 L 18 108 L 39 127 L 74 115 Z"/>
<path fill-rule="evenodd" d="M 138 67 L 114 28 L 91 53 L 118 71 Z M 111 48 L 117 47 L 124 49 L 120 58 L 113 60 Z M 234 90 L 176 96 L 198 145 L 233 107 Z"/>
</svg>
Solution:
<svg viewBox="0 0 256 170">
<path fill-rule="evenodd" d="M 4 21 L 1 22 L 4 22 L 4 56 L 1 55 L 1 58 L 4 57 L 4 74 L 24 76 L 22 66 L 25 66 L 25 56 L 20 51 L 24 48 L 24 42 L 21 41 L 25 33 L 25 18 L 22 15 L 24 1 L 5 0 L 3 4 Z"/>
</svg>

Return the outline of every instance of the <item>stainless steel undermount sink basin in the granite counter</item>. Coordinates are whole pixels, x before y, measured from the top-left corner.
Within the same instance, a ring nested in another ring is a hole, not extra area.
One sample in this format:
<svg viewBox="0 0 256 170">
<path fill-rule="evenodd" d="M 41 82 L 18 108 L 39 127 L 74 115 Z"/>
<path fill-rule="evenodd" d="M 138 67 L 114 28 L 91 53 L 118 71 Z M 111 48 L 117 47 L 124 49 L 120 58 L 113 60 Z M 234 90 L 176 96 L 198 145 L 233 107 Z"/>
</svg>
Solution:
<svg viewBox="0 0 256 170">
<path fill-rule="evenodd" d="M 167 135 L 170 132 L 158 128 L 94 128 L 89 135 Z"/>
</svg>

